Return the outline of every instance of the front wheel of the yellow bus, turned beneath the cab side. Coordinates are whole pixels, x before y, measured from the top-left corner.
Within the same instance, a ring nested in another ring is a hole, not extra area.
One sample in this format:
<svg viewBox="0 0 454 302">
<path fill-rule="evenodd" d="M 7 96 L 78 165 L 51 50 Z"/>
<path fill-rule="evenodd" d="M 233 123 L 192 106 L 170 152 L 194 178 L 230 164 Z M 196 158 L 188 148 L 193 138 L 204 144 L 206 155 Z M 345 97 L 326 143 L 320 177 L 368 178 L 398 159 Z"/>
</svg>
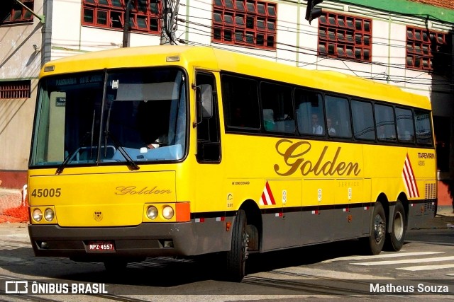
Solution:
<svg viewBox="0 0 454 302">
<path fill-rule="evenodd" d="M 232 229 L 231 250 L 227 252 L 227 276 L 231 281 L 240 282 L 245 275 L 248 258 L 248 233 L 246 233 L 246 214 L 239 210 Z"/>
</svg>

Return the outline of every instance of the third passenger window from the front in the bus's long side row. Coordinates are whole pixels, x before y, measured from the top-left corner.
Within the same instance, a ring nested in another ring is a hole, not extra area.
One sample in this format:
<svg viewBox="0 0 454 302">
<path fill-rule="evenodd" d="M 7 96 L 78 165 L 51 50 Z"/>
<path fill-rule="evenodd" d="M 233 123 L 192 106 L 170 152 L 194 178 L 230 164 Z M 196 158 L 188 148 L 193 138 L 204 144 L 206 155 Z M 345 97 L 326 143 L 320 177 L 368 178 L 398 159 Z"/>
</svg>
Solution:
<svg viewBox="0 0 454 302">
<path fill-rule="evenodd" d="M 300 134 L 325 134 L 321 94 L 295 89 L 295 108 Z"/>
</svg>

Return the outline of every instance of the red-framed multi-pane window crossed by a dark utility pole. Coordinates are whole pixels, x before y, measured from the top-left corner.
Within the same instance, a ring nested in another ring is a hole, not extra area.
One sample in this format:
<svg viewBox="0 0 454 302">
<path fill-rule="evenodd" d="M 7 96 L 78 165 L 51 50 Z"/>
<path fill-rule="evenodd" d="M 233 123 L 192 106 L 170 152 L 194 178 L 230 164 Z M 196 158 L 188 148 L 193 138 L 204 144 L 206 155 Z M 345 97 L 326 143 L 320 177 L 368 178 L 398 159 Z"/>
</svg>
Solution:
<svg viewBox="0 0 454 302">
<path fill-rule="evenodd" d="M 123 30 L 127 0 L 83 0 L 82 25 Z M 161 0 L 136 0 L 131 5 L 131 31 L 159 34 Z"/>
</svg>

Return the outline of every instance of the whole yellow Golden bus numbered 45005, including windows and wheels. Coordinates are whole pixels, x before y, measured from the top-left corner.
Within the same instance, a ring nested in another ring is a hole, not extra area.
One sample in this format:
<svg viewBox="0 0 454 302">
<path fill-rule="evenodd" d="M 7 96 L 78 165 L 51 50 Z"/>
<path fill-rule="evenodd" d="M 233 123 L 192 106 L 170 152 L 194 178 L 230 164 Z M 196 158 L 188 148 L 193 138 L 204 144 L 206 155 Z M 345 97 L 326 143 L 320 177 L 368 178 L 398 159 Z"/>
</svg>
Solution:
<svg viewBox="0 0 454 302">
<path fill-rule="evenodd" d="M 360 238 L 399 250 L 436 214 L 428 98 L 211 47 L 43 66 L 28 169 L 36 256 L 121 269 Z"/>
</svg>

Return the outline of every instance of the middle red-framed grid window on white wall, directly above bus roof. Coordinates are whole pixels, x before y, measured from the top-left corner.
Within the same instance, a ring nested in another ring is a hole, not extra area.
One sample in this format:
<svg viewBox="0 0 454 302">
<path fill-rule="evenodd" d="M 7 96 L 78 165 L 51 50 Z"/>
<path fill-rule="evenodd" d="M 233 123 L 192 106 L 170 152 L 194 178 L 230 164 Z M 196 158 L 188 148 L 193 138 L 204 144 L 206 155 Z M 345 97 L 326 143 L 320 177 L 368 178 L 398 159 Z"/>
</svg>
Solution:
<svg viewBox="0 0 454 302">
<path fill-rule="evenodd" d="M 277 4 L 214 0 L 213 42 L 276 49 Z"/>
</svg>

